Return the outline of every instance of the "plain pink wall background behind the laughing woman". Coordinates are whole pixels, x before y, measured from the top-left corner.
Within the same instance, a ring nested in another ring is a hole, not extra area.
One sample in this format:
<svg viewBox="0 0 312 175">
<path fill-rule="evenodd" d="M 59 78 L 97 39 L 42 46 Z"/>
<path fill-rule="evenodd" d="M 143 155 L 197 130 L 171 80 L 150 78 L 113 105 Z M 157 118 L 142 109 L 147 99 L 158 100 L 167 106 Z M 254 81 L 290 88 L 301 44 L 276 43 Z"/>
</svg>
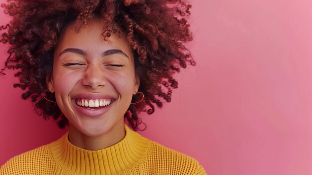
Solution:
<svg viewBox="0 0 312 175">
<path fill-rule="evenodd" d="M 311 175 L 312 2 L 192 4 L 197 66 L 176 76 L 171 103 L 142 116 L 141 134 L 196 158 L 208 175 Z M 33 113 L 11 73 L 0 82 L 2 165 L 65 131 Z"/>
</svg>

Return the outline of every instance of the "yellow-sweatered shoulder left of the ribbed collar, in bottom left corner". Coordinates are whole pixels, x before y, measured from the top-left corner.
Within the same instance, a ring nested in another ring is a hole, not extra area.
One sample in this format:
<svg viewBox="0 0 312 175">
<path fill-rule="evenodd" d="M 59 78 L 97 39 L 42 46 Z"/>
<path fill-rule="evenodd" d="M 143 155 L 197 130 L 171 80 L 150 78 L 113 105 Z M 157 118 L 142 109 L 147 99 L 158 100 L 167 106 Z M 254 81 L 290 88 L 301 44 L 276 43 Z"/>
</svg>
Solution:
<svg viewBox="0 0 312 175">
<path fill-rule="evenodd" d="M 11 158 L 0 167 L 0 175 L 44 175 L 42 170 L 54 168 L 49 145 L 45 145 Z"/>
</svg>

